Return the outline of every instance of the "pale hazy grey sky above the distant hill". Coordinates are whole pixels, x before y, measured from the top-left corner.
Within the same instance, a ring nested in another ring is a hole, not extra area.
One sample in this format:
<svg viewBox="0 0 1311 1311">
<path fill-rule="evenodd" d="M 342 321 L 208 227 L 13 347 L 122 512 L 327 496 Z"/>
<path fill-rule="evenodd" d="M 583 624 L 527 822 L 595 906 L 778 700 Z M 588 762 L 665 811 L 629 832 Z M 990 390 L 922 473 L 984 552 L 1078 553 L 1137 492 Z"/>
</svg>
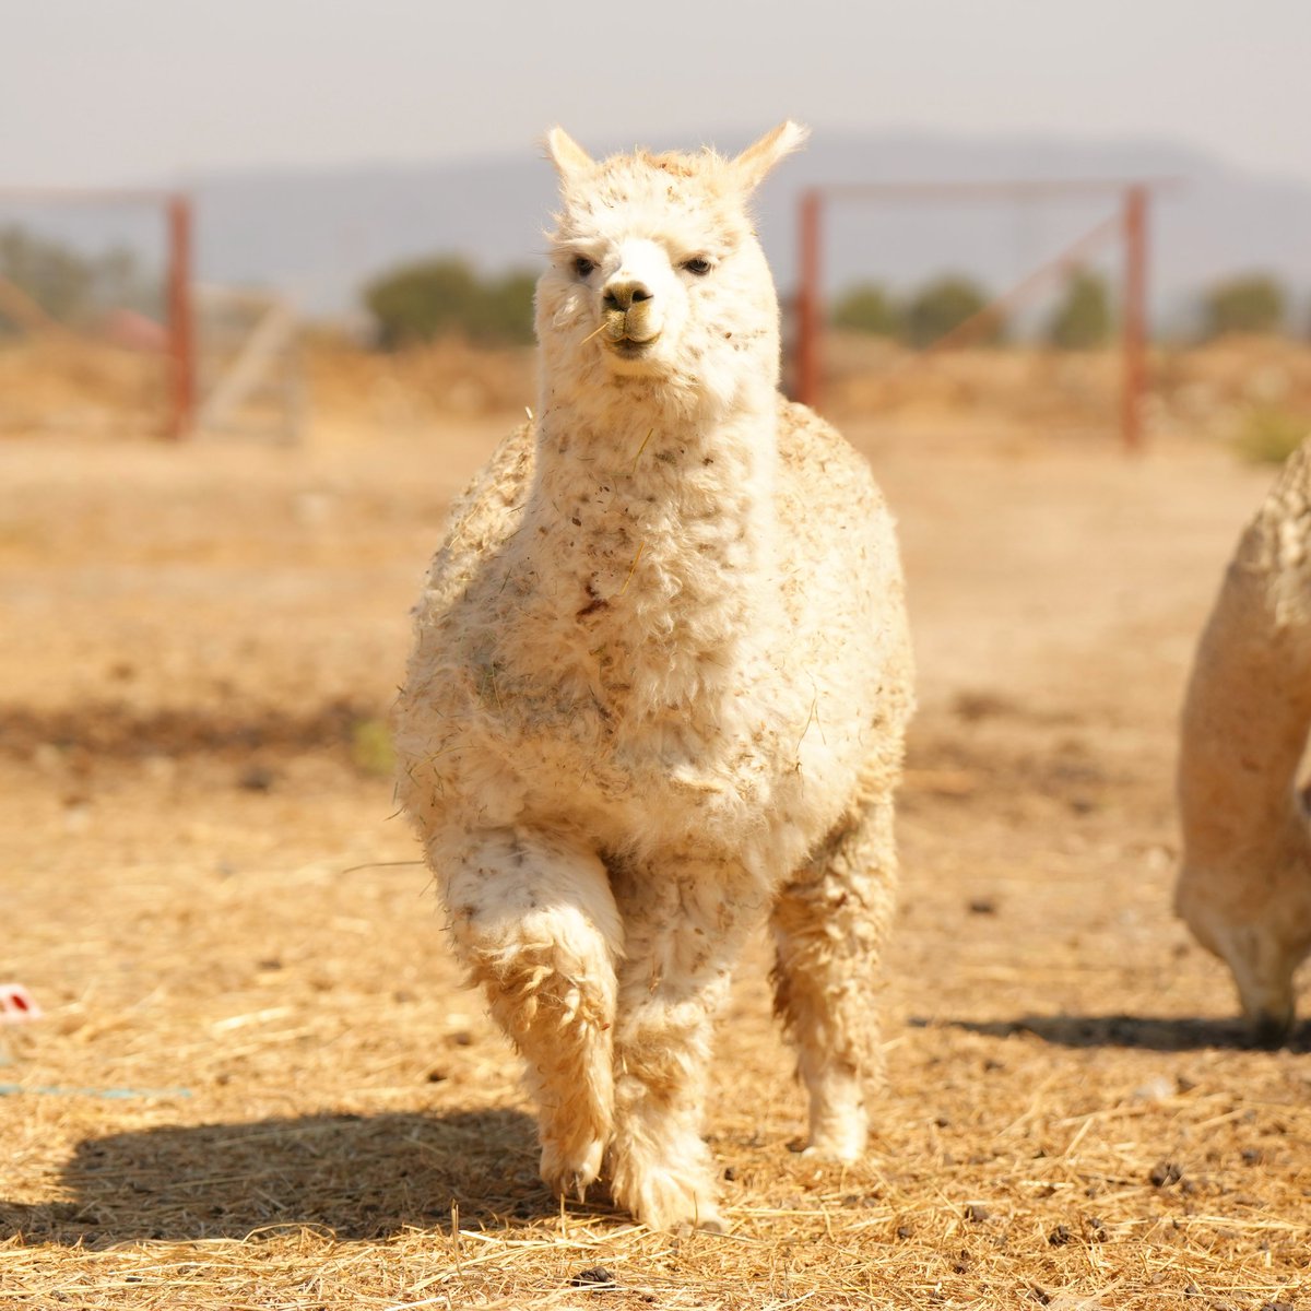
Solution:
<svg viewBox="0 0 1311 1311">
<path fill-rule="evenodd" d="M 1311 182 L 1311 0 L 0 0 L 0 185 L 696 144 L 1151 136 Z M 1311 235 L 1308 235 L 1311 240 Z"/>
</svg>

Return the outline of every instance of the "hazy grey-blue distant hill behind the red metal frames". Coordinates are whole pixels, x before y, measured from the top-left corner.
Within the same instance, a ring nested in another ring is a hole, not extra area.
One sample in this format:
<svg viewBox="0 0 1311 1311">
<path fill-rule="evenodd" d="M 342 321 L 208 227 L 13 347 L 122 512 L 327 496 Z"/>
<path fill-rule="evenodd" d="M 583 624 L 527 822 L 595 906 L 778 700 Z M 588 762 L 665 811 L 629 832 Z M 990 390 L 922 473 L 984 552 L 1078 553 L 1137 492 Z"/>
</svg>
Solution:
<svg viewBox="0 0 1311 1311">
<path fill-rule="evenodd" d="M 721 139 L 728 149 L 741 144 Z M 1152 216 L 1159 326 L 1184 326 L 1202 287 L 1251 269 L 1281 277 L 1297 296 L 1298 325 L 1311 326 L 1311 186 L 1247 173 L 1169 143 L 819 130 L 766 184 L 762 235 L 779 284 L 788 290 L 796 269 L 796 197 L 808 185 L 1053 177 L 1181 180 Z M 401 260 L 459 252 L 488 270 L 540 265 L 555 178 L 526 144 L 513 157 L 461 163 L 202 176 L 193 191 L 203 279 L 275 286 L 311 312 L 342 315 L 358 307 L 359 287 L 371 275 Z M 950 269 L 999 291 L 1106 210 L 1104 202 L 1032 208 L 1007 202 L 838 203 L 829 215 L 826 283 L 830 291 L 867 278 L 906 287 Z M 18 216 L 0 206 L 0 225 Z M 93 207 L 29 212 L 26 222 L 104 246 L 138 240 L 144 224 L 156 220 Z M 1109 253 L 1104 262 L 1112 267 Z"/>
</svg>

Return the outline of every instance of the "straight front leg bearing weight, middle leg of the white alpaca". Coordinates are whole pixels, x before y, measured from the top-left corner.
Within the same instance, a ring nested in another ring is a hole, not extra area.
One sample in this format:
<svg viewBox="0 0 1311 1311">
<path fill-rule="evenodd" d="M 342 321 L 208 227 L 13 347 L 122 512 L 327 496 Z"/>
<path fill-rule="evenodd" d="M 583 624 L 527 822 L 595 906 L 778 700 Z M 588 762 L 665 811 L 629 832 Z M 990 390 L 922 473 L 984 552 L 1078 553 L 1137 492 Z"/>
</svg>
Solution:
<svg viewBox="0 0 1311 1311">
<path fill-rule="evenodd" d="M 625 960 L 616 1033 L 615 1201 L 652 1228 L 721 1230 L 701 1139 L 714 1013 L 764 898 L 720 865 L 644 872 L 620 895 Z"/>
</svg>

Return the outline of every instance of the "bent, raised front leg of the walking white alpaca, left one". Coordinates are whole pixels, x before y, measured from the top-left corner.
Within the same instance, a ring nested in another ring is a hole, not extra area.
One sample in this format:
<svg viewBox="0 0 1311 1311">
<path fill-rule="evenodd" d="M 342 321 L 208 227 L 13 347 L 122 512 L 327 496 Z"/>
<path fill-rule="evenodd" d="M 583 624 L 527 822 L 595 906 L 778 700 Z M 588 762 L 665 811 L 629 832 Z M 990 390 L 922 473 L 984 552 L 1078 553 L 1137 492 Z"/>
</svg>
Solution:
<svg viewBox="0 0 1311 1311">
<path fill-rule="evenodd" d="M 456 952 L 527 1061 L 541 1177 L 581 1200 L 614 1121 L 623 929 L 607 871 L 561 835 L 518 827 L 460 835 L 431 855 Z"/>
</svg>

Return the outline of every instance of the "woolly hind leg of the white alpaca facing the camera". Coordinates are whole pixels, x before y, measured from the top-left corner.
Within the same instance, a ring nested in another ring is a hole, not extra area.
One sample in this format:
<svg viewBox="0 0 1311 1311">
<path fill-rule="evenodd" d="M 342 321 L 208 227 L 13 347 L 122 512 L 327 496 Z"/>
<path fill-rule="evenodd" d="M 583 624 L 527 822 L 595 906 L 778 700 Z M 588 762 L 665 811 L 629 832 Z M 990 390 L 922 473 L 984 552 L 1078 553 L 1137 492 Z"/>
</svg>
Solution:
<svg viewBox="0 0 1311 1311">
<path fill-rule="evenodd" d="M 897 895 L 893 809 L 867 806 L 784 886 L 772 927 L 775 1013 L 810 1095 L 808 1151 L 856 1160 L 881 1075 L 874 991 Z"/>
</svg>

